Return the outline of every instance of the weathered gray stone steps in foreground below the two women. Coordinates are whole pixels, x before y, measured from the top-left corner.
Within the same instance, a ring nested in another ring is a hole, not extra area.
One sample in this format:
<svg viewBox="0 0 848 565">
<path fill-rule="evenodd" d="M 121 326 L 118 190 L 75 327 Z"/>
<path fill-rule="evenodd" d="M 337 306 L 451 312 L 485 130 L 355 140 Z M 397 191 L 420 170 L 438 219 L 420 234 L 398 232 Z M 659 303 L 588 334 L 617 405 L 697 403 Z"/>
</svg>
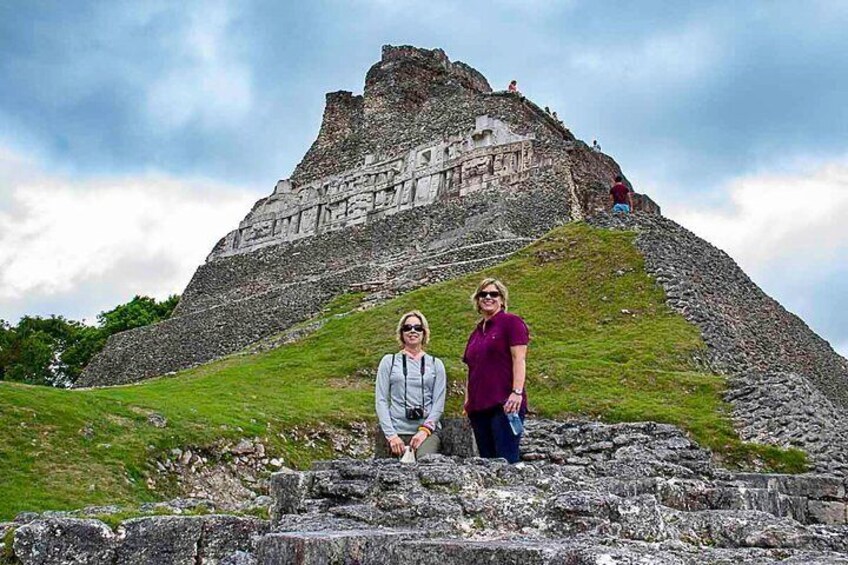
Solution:
<svg viewBox="0 0 848 565">
<path fill-rule="evenodd" d="M 529 420 L 523 461 L 340 459 L 271 477 L 270 523 L 236 516 L 38 517 L 21 563 L 848 563 L 842 478 L 733 473 L 673 426 Z"/>
</svg>

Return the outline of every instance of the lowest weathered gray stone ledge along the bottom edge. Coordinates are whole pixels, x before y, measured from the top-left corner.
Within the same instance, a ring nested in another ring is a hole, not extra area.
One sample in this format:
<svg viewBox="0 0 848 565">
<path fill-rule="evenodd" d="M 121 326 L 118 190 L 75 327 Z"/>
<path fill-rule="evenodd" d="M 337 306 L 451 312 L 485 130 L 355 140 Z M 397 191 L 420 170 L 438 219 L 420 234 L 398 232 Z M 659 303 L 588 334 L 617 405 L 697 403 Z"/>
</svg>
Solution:
<svg viewBox="0 0 848 565">
<path fill-rule="evenodd" d="M 766 565 L 846 564 L 840 552 L 715 547 L 580 535 L 560 539 L 428 539 L 422 532 L 351 530 L 280 533 L 257 544 L 257 565 Z"/>
</svg>

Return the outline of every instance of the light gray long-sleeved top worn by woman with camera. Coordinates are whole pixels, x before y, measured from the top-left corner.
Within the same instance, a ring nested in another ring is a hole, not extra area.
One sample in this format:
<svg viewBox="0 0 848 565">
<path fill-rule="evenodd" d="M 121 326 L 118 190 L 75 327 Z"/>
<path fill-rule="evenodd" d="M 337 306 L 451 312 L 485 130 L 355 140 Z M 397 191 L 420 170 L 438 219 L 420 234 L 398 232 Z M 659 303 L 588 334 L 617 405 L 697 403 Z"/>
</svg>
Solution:
<svg viewBox="0 0 848 565">
<path fill-rule="evenodd" d="M 414 434 L 418 426 L 436 429 L 445 411 L 447 375 L 441 359 L 424 355 L 424 390 L 421 389 L 421 360 L 406 359 L 403 376 L 403 353 L 385 355 L 377 369 L 375 407 L 380 428 L 387 438 L 397 434 Z M 405 380 L 405 387 L 404 387 Z M 405 394 L 404 397 L 404 388 Z M 407 420 L 406 408 L 422 406 L 424 418 Z"/>
</svg>

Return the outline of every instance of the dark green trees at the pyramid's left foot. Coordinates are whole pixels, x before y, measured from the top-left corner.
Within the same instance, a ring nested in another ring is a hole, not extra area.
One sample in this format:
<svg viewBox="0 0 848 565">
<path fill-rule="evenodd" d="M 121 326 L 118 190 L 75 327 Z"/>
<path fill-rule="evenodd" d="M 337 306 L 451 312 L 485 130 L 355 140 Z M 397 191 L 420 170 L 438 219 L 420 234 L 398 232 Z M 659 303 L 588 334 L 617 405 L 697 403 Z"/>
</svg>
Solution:
<svg viewBox="0 0 848 565">
<path fill-rule="evenodd" d="M 70 386 L 110 335 L 167 319 L 179 299 L 135 296 L 98 314 L 97 326 L 62 316 L 24 316 L 16 326 L 0 320 L 0 380 Z"/>
</svg>

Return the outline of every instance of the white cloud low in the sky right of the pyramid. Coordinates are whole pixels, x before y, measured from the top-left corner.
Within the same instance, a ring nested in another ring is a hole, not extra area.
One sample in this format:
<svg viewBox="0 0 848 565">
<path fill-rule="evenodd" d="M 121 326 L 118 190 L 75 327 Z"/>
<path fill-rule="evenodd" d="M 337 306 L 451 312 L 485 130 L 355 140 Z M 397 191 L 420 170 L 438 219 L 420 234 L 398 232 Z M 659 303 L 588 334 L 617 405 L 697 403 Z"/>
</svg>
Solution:
<svg viewBox="0 0 848 565">
<path fill-rule="evenodd" d="M 834 262 L 848 256 L 848 163 L 737 178 L 729 205 L 667 207 L 670 217 L 748 268 Z"/>
</svg>

